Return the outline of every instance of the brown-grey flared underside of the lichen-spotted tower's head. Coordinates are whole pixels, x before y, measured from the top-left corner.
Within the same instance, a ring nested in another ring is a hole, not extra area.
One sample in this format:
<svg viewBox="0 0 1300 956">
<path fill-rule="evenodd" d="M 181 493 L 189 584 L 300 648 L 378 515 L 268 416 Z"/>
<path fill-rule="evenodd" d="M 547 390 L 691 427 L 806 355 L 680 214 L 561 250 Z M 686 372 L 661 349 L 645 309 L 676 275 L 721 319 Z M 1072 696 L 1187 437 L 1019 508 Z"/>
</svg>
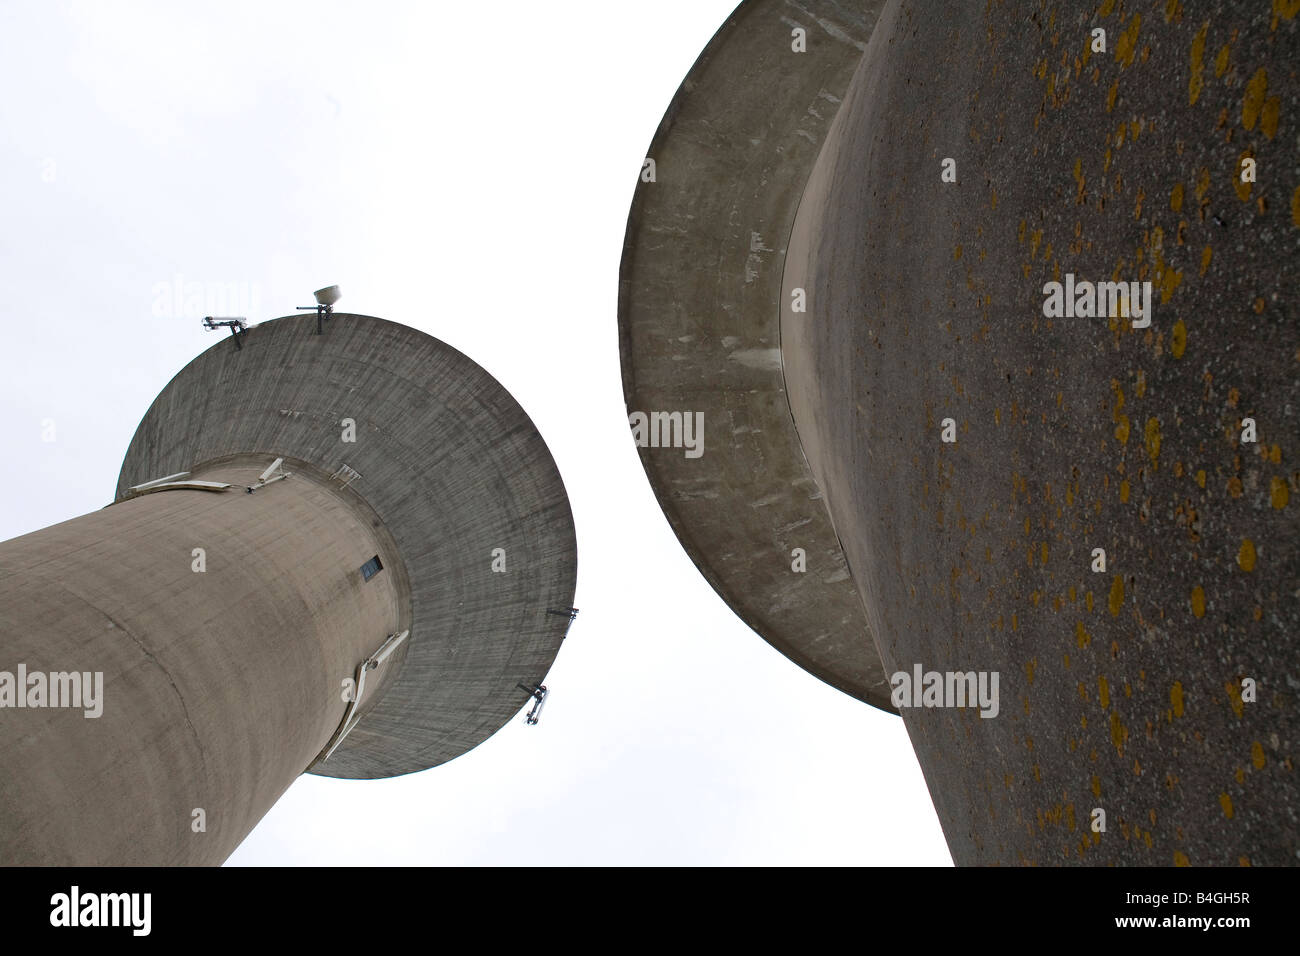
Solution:
<svg viewBox="0 0 1300 956">
<path fill-rule="evenodd" d="M 712 38 L 655 133 L 655 181 L 632 202 L 619 343 L 629 416 L 703 416 L 698 457 L 638 449 L 701 574 L 800 667 L 892 710 L 780 359 L 786 237 L 879 7 L 749 0 Z M 796 27 L 807 52 L 792 51 Z"/>
</svg>

